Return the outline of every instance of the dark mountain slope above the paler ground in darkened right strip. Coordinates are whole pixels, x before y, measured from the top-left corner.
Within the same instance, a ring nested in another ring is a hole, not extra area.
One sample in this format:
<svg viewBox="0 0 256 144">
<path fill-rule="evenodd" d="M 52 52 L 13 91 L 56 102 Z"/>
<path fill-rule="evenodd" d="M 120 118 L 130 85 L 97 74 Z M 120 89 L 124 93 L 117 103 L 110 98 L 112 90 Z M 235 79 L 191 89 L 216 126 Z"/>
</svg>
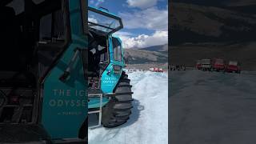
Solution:
<svg viewBox="0 0 256 144">
<path fill-rule="evenodd" d="M 242 10 L 242 8 L 241 8 Z M 172 3 L 170 42 L 250 42 L 254 41 L 256 17 L 231 8 Z"/>
</svg>

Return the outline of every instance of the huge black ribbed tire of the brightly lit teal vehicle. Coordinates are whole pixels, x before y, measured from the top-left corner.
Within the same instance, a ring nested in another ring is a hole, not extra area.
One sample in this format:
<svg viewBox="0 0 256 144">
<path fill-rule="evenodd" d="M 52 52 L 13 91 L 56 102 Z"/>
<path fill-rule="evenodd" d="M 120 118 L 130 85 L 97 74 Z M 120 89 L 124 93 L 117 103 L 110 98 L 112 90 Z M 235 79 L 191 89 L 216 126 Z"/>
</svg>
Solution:
<svg viewBox="0 0 256 144">
<path fill-rule="evenodd" d="M 102 125 L 104 127 L 116 127 L 127 122 L 133 107 L 131 87 L 128 75 L 122 73 L 110 102 L 102 107 Z"/>
</svg>

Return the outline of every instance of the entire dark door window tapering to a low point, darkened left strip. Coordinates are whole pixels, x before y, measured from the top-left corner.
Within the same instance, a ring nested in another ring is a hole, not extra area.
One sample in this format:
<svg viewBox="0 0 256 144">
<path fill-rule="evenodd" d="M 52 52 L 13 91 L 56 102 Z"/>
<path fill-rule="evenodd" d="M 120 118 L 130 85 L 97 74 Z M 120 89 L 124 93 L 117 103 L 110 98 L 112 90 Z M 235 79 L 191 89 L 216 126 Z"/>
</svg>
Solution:
<svg viewBox="0 0 256 144">
<path fill-rule="evenodd" d="M 49 11 L 39 19 L 38 68 L 40 76 L 46 74 L 58 54 L 66 48 L 66 41 L 69 39 L 66 38 L 64 16 L 64 11 L 59 9 Z"/>
</svg>

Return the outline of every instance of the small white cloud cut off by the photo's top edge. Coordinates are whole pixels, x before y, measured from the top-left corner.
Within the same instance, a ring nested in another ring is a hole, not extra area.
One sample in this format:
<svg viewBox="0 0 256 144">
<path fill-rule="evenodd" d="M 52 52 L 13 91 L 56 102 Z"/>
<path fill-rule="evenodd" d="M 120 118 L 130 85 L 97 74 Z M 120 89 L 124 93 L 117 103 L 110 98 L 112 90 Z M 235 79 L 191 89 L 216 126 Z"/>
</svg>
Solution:
<svg viewBox="0 0 256 144">
<path fill-rule="evenodd" d="M 128 6 L 146 9 L 155 6 L 158 0 L 127 0 Z"/>
</svg>

